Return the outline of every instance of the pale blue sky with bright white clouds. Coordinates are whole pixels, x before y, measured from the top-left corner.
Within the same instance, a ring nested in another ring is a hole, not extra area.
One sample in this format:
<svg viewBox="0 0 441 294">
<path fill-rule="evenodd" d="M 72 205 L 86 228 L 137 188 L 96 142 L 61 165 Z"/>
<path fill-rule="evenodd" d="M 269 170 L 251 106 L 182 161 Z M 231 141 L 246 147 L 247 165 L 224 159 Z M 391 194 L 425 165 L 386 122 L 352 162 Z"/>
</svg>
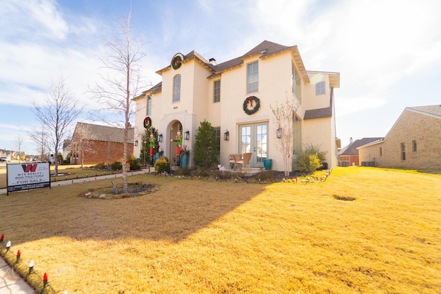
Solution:
<svg viewBox="0 0 441 294">
<path fill-rule="evenodd" d="M 342 147 L 386 136 L 405 107 L 441 104 L 439 0 L 0 0 L 0 149 L 21 137 L 37 154 L 31 102 L 44 103 L 60 76 L 89 121 L 103 43 L 130 11 L 145 90 L 177 52 L 222 63 L 267 40 L 297 45 L 306 70 L 340 73 Z"/>
</svg>

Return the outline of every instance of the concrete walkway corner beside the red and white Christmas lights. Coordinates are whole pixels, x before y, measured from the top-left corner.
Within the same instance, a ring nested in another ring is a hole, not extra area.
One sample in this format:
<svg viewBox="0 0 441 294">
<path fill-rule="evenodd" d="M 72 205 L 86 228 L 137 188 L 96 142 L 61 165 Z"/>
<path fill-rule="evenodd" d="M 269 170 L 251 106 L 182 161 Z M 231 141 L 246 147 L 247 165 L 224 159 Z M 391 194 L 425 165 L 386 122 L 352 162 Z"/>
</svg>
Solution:
<svg viewBox="0 0 441 294">
<path fill-rule="evenodd" d="M 22 277 L 0 258 L 0 294 L 37 293 Z"/>
</svg>

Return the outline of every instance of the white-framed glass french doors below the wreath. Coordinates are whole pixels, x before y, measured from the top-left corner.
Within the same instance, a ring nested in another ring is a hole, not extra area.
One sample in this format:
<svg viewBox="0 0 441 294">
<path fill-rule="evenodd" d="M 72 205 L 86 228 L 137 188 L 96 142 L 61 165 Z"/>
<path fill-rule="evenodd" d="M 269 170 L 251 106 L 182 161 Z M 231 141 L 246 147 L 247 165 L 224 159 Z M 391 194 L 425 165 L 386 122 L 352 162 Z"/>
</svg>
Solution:
<svg viewBox="0 0 441 294">
<path fill-rule="evenodd" d="M 251 152 L 252 167 L 263 167 L 268 156 L 268 123 L 252 123 L 239 126 L 239 151 Z"/>
</svg>

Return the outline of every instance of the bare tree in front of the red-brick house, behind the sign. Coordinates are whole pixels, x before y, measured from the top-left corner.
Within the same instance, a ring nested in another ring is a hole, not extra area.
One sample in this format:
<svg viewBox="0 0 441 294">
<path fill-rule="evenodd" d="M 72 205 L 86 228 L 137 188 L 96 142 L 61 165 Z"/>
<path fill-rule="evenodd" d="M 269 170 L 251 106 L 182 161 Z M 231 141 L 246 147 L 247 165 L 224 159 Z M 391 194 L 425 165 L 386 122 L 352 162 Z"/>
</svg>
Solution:
<svg viewBox="0 0 441 294">
<path fill-rule="evenodd" d="M 38 142 L 54 152 L 54 173 L 58 176 L 57 154 L 62 148 L 63 140 L 69 136 L 70 126 L 83 111 L 83 106 L 79 106 L 79 101 L 68 90 L 63 76 L 57 81 L 51 81 L 45 105 L 40 106 L 36 101 L 32 101 L 32 106 L 34 107 L 32 112 L 43 125 L 43 129 L 47 131 L 42 131 L 41 134 L 45 134 L 45 139 L 38 140 Z M 39 137 L 39 135 L 36 136 Z"/>
</svg>

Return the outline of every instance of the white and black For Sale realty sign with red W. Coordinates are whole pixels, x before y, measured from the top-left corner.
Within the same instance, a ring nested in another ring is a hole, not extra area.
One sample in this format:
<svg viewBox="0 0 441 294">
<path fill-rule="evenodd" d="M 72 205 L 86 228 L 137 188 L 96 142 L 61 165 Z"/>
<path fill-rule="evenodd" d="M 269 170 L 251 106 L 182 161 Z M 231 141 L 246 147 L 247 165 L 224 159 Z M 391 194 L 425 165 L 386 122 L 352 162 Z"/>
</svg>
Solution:
<svg viewBox="0 0 441 294">
<path fill-rule="evenodd" d="M 8 192 L 50 187 L 49 162 L 6 166 Z"/>
</svg>

